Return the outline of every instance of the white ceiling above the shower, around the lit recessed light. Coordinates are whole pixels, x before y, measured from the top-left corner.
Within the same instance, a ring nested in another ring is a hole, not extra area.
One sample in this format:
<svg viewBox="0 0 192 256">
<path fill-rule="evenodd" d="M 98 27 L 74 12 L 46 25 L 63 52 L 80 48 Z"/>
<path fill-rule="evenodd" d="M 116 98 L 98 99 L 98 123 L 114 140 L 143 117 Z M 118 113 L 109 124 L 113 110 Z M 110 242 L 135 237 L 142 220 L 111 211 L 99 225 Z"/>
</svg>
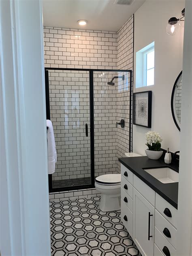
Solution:
<svg viewBox="0 0 192 256">
<path fill-rule="evenodd" d="M 117 31 L 145 0 L 130 6 L 113 4 L 114 0 L 43 0 L 44 26 Z M 77 20 L 87 25 L 79 26 Z"/>
</svg>

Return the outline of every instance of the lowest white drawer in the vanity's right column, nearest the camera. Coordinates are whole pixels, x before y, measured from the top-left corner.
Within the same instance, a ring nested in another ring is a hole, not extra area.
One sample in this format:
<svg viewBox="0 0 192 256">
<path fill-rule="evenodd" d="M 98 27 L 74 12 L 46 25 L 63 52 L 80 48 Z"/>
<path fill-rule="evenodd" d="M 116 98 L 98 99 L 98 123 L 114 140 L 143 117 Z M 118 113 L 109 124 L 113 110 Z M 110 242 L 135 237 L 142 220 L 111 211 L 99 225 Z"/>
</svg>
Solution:
<svg viewBox="0 0 192 256">
<path fill-rule="evenodd" d="M 160 233 L 160 231 L 155 227 L 155 243 L 160 249 L 160 251 L 163 253 L 163 255 L 170 255 L 175 256 L 176 250 L 175 248 L 169 243 L 166 238 Z M 165 252 L 164 252 L 165 250 Z"/>
</svg>

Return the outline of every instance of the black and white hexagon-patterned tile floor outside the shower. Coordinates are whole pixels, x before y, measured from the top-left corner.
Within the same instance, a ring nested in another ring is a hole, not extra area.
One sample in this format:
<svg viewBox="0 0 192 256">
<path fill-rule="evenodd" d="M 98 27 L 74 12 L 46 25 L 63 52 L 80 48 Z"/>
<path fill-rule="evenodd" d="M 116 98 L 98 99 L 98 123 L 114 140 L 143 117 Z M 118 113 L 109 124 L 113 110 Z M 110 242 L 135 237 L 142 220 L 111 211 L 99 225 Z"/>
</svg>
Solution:
<svg viewBox="0 0 192 256">
<path fill-rule="evenodd" d="M 102 212 L 99 200 L 50 203 L 53 256 L 141 256 L 120 220 L 120 211 Z"/>
</svg>

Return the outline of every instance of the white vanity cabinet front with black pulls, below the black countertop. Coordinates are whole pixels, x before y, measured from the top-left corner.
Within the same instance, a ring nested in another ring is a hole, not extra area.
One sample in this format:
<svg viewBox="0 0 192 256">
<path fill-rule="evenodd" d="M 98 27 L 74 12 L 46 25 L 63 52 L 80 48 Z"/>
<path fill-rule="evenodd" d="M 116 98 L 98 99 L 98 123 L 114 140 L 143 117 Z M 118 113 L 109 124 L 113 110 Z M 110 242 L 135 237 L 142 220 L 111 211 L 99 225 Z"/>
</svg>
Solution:
<svg viewBox="0 0 192 256">
<path fill-rule="evenodd" d="M 121 218 L 143 256 L 175 256 L 177 209 L 121 164 Z"/>
</svg>

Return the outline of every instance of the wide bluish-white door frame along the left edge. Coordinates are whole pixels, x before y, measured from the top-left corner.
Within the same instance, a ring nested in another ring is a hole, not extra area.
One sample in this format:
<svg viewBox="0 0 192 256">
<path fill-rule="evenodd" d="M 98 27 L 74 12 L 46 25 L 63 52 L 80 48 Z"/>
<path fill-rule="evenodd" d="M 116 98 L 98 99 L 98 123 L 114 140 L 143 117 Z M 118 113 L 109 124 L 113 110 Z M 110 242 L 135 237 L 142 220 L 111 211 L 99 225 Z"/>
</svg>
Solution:
<svg viewBox="0 0 192 256">
<path fill-rule="evenodd" d="M 49 256 L 41 0 L 0 2 L 2 256 Z"/>
</svg>

